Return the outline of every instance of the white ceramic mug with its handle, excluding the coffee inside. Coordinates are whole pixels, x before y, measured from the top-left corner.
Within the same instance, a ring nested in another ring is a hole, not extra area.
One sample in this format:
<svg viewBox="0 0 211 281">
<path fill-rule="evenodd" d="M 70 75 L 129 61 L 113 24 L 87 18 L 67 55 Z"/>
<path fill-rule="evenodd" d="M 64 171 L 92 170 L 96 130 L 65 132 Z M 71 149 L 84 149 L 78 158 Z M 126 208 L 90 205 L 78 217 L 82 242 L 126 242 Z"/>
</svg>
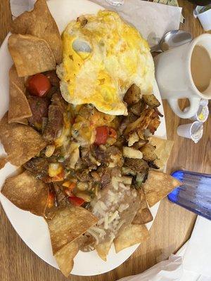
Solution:
<svg viewBox="0 0 211 281">
<path fill-rule="evenodd" d="M 160 53 L 154 58 L 155 78 L 160 94 L 181 118 L 192 117 L 198 110 L 201 98 L 207 100 L 211 98 L 211 79 L 205 91 L 199 91 L 193 82 L 191 56 L 197 45 L 204 47 L 211 58 L 211 34 L 202 34 L 193 41 Z M 188 98 L 190 101 L 188 111 L 180 110 L 179 98 Z"/>
</svg>

